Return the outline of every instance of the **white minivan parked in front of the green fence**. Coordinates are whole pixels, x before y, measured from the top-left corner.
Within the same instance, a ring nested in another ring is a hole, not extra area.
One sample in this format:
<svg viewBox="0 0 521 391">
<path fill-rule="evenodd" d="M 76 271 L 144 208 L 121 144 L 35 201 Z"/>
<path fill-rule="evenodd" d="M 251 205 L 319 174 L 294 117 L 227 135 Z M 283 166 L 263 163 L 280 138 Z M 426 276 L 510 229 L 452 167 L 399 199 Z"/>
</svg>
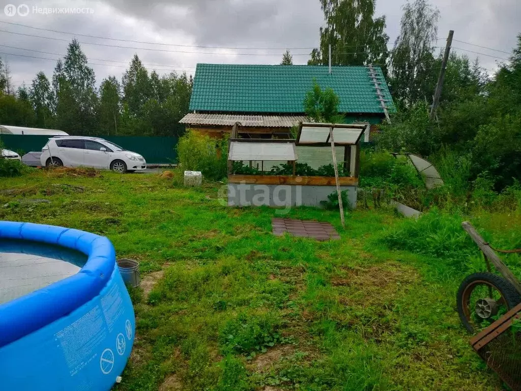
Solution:
<svg viewBox="0 0 521 391">
<path fill-rule="evenodd" d="M 116 173 L 146 168 L 139 153 L 126 151 L 119 145 L 98 137 L 59 136 L 49 139 L 42 148 L 42 166 L 93 167 Z"/>
</svg>

